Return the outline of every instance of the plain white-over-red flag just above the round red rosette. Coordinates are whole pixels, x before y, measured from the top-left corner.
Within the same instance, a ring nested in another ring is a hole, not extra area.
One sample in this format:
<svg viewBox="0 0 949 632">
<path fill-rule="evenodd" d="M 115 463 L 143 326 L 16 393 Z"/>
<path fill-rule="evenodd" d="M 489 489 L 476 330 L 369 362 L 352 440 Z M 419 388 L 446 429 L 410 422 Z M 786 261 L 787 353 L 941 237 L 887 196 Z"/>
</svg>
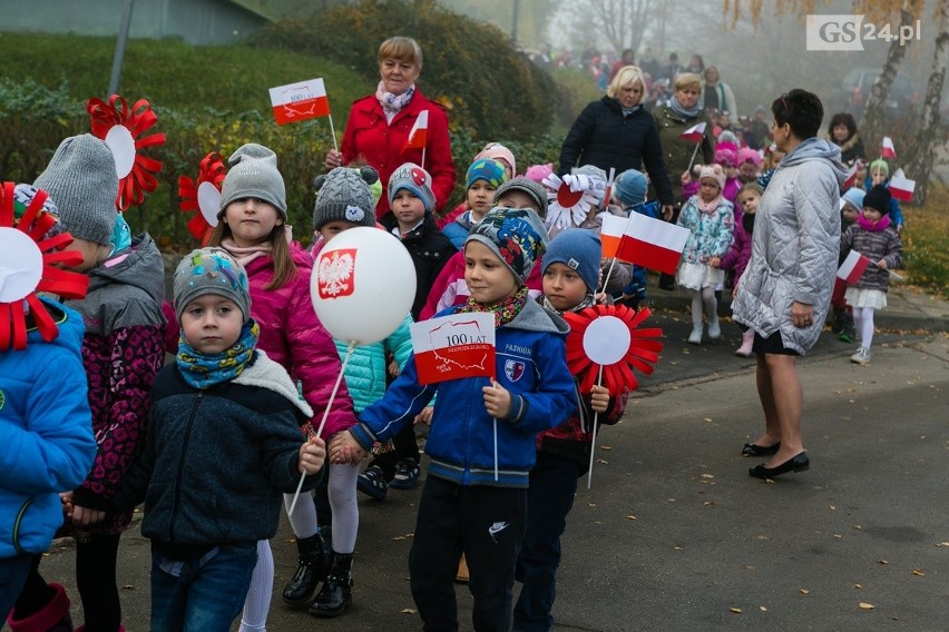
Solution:
<svg viewBox="0 0 949 632">
<path fill-rule="evenodd" d="M 688 228 L 633 213 L 626 220 L 616 258 L 672 275 L 688 235 Z"/>
</svg>

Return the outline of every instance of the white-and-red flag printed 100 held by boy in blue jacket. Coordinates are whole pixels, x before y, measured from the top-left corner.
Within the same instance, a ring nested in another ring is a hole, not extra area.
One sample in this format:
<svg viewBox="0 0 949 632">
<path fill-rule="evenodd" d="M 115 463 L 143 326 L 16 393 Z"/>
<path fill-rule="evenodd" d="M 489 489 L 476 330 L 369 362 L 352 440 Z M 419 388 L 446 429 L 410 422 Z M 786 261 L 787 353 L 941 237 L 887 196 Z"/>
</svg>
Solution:
<svg viewBox="0 0 949 632">
<path fill-rule="evenodd" d="M 421 384 L 495 377 L 495 315 L 452 314 L 409 328 Z"/>
</svg>

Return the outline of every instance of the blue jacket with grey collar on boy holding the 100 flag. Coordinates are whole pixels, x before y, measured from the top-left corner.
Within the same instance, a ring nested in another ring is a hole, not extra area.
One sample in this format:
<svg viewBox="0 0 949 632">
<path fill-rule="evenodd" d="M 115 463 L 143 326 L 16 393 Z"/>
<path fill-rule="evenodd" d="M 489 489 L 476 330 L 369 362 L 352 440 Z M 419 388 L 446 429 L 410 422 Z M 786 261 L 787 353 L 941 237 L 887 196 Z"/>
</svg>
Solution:
<svg viewBox="0 0 949 632">
<path fill-rule="evenodd" d="M 452 314 L 450 307 L 439 316 Z M 574 376 L 567 367 L 568 326 L 559 316 L 528 300 L 520 314 L 497 329 L 498 383 L 511 392 L 511 412 L 497 421 L 498 481 L 495 481 L 495 423 L 485 409 L 487 377 L 422 385 L 414 357 L 350 428 L 363 448 L 394 436 L 438 392 L 425 454 L 429 474 L 459 485 L 527 488 L 538 432 L 566 421 L 577 408 Z"/>
</svg>

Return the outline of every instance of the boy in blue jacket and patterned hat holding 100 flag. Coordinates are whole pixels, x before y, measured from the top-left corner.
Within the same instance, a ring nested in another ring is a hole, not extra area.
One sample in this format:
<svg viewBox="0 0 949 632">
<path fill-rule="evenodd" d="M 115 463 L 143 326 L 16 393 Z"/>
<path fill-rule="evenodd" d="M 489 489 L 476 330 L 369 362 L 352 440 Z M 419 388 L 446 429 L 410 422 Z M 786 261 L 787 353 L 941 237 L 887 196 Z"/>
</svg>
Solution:
<svg viewBox="0 0 949 632">
<path fill-rule="evenodd" d="M 452 579 L 466 553 L 476 630 L 511 625 L 513 570 L 525 531 L 535 435 L 574 411 L 566 363 L 567 324 L 527 294 L 525 279 L 544 249 L 545 230 L 528 209 L 492 209 L 464 244 L 466 305 L 444 314 L 487 312 L 497 326 L 497 378 L 423 385 L 413 358 L 361 423 L 331 444 L 334 463 L 358 458 L 392 436 L 439 394 L 425 453 L 409 571 L 427 630 L 457 630 Z M 497 428 L 497 453 L 493 450 Z M 495 480 L 495 456 L 499 480 Z"/>
</svg>

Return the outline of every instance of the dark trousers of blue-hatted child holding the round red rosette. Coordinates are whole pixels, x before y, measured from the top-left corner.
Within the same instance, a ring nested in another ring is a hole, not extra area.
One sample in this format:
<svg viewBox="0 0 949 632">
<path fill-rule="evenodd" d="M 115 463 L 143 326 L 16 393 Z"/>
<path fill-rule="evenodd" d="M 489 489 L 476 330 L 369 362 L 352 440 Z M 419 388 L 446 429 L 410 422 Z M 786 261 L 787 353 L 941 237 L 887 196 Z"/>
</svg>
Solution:
<svg viewBox="0 0 949 632">
<path fill-rule="evenodd" d="M 524 584 L 513 611 L 517 632 L 548 632 L 554 625 L 550 611 L 560 565 L 560 536 L 567 527 L 581 470 L 566 458 L 537 453 L 537 463 L 530 471 L 527 531 L 517 560 L 516 577 Z"/>
</svg>

